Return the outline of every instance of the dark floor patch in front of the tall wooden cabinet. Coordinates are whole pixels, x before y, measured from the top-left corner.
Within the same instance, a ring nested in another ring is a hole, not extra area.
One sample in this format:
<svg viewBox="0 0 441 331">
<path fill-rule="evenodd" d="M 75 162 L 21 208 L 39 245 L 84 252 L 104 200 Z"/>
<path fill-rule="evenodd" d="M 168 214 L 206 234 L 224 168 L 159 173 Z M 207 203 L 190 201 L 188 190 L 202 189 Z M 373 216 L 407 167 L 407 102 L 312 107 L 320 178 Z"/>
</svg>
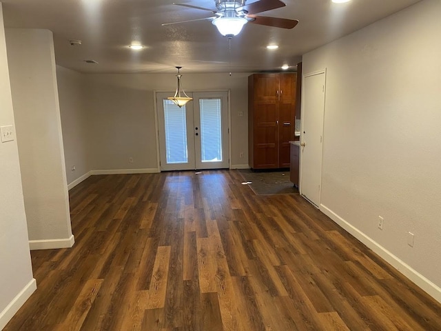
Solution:
<svg viewBox="0 0 441 331">
<path fill-rule="evenodd" d="M 289 181 L 289 171 L 253 172 L 250 169 L 239 170 L 253 192 L 257 195 L 298 194 L 294 184 Z"/>
</svg>

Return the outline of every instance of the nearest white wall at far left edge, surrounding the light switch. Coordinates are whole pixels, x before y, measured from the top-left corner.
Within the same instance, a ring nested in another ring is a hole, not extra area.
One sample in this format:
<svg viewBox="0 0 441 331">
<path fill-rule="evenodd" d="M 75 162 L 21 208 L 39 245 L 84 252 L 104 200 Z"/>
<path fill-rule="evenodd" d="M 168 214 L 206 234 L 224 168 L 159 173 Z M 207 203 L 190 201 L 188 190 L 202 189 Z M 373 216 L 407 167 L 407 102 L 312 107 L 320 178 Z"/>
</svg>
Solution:
<svg viewBox="0 0 441 331">
<path fill-rule="evenodd" d="M 14 125 L 0 3 L 0 126 Z M 0 142 L 0 330 L 34 292 L 17 141 Z"/>
</svg>

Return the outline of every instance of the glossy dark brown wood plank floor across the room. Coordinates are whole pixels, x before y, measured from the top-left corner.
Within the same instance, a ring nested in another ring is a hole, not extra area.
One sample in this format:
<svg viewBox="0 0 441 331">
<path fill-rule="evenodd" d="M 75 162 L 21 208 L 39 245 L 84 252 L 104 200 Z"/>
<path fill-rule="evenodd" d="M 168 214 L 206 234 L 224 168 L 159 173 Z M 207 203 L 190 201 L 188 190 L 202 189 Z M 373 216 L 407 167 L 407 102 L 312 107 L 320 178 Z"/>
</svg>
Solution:
<svg viewBox="0 0 441 331">
<path fill-rule="evenodd" d="M 441 306 L 298 194 L 236 170 L 90 177 L 16 330 L 441 330 Z"/>
</svg>

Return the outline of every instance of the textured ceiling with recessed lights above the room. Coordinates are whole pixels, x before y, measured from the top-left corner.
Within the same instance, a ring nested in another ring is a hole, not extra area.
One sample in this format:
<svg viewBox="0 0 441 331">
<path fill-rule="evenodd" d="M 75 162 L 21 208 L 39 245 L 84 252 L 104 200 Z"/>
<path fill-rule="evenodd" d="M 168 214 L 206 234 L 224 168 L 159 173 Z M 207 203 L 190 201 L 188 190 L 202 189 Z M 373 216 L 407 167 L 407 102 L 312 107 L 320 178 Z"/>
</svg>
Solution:
<svg viewBox="0 0 441 331">
<path fill-rule="evenodd" d="M 179 1 L 179 0 L 175 0 Z M 295 66 L 309 50 L 363 28 L 419 0 L 285 0 L 285 8 L 262 16 L 298 19 L 292 30 L 247 23 L 223 37 L 210 21 L 172 26 L 161 23 L 201 19 L 210 12 L 174 6 L 173 0 L 3 0 L 6 28 L 42 28 L 54 34 L 57 64 L 79 72 L 258 72 Z M 249 0 L 247 3 L 254 1 Z M 214 0 L 185 0 L 212 8 Z M 384 33 L 387 33 L 385 31 Z M 69 39 L 81 39 L 70 46 Z M 137 41 L 141 51 L 127 46 Z M 278 50 L 265 46 L 277 43 Z M 99 64 L 88 64 L 93 59 Z"/>
</svg>

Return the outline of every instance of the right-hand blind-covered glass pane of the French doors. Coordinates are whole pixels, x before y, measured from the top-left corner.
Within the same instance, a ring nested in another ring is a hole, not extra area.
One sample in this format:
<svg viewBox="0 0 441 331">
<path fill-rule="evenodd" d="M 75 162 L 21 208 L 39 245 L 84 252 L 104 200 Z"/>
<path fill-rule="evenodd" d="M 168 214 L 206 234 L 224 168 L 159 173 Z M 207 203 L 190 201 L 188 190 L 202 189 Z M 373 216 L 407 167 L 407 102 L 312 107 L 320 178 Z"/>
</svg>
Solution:
<svg viewBox="0 0 441 331">
<path fill-rule="evenodd" d="M 222 161 L 220 99 L 199 99 L 201 110 L 201 161 Z"/>
</svg>

